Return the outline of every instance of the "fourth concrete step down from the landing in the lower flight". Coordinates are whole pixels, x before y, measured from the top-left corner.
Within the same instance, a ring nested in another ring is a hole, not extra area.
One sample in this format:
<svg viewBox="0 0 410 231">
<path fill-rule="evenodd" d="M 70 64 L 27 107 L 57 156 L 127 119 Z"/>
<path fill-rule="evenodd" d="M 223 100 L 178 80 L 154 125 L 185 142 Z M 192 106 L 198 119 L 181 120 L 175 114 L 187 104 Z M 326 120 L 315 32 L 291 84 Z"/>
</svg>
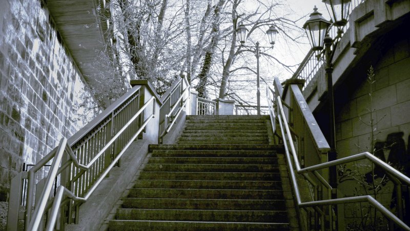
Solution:
<svg viewBox="0 0 410 231">
<path fill-rule="evenodd" d="M 272 172 L 278 165 L 262 164 L 146 164 L 144 171 Z"/>
</svg>

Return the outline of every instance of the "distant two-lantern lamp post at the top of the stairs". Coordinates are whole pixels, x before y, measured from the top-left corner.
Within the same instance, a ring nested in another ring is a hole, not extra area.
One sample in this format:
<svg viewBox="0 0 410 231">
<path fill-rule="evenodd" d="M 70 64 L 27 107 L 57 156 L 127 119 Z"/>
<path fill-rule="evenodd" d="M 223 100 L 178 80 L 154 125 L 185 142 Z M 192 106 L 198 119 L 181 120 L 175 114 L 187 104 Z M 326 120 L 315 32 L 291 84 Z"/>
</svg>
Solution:
<svg viewBox="0 0 410 231">
<path fill-rule="evenodd" d="M 258 115 L 260 115 L 260 76 L 259 76 L 259 57 L 260 57 L 260 48 L 265 48 L 264 51 L 267 51 L 271 48 L 273 48 L 273 45 L 275 44 L 275 39 L 276 39 L 276 34 L 278 33 L 278 30 L 275 28 L 274 25 L 270 26 L 269 29 L 267 30 L 267 35 L 269 38 L 269 43 L 271 44 L 270 47 L 261 47 L 259 46 L 259 42 L 256 42 L 256 46 L 245 46 L 245 41 L 247 39 L 247 34 L 248 34 L 248 29 L 241 24 L 238 29 L 236 29 L 236 33 L 238 34 L 239 42 L 241 47 L 246 47 L 249 48 L 252 52 L 255 52 L 256 56 L 256 86 L 257 86 L 257 91 L 256 91 L 256 100 L 257 100 L 257 106 L 256 110 Z M 252 49 L 255 50 L 252 50 Z"/>
</svg>

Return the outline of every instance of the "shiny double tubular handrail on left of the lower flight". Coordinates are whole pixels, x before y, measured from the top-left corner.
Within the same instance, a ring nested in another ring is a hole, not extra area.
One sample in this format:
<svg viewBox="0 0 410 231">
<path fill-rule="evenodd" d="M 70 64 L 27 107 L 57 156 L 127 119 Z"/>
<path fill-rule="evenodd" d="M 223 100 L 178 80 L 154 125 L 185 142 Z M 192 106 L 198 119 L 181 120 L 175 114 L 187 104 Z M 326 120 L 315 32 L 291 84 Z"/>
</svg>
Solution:
<svg viewBox="0 0 410 231">
<path fill-rule="evenodd" d="M 103 181 L 103 179 L 107 176 L 107 174 L 109 173 L 109 171 L 112 169 L 112 167 L 115 166 L 115 164 L 117 163 L 117 161 L 121 158 L 121 156 L 124 154 L 124 152 L 127 150 L 127 148 L 131 145 L 131 143 L 138 137 L 139 133 L 147 126 L 148 122 L 154 118 L 155 115 L 155 97 L 151 97 L 144 106 L 142 106 L 138 112 L 132 117 L 132 119 L 130 121 L 127 122 L 127 124 L 122 127 L 117 133 L 116 135 L 105 145 L 105 147 L 103 149 L 101 149 L 98 154 L 96 155 L 96 157 L 100 157 L 101 155 L 103 155 L 103 153 L 106 151 L 106 149 L 108 147 L 111 146 L 111 144 L 118 139 L 118 137 L 120 136 L 121 133 L 123 133 L 126 128 L 128 128 L 132 122 L 134 122 L 139 115 L 145 110 L 145 108 L 151 103 L 154 102 L 154 106 L 153 106 L 153 112 L 150 115 L 150 117 L 148 119 L 146 119 L 146 121 L 144 122 L 144 124 L 142 124 L 142 126 L 137 130 L 137 132 L 134 134 L 134 136 L 130 139 L 130 141 L 126 144 L 126 146 L 118 153 L 118 155 L 116 156 L 116 158 L 111 162 L 111 164 L 106 168 L 106 170 L 103 172 L 103 174 L 100 175 L 99 179 L 93 184 L 93 186 L 90 188 L 90 190 L 87 192 L 85 197 L 77 197 L 74 195 L 74 193 L 70 190 L 68 190 L 67 188 L 65 188 L 64 186 L 60 185 L 56 194 L 56 197 L 54 197 L 54 202 L 51 208 L 51 220 L 50 222 L 47 224 L 47 230 L 53 230 L 54 228 L 54 224 L 57 218 L 57 214 L 58 214 L 58 208 L 61 204 L 61 200 L 63 198 L 63 194 L 67 194 L 69 197 L 71 197 L 72 199 L 76 200 L 76 201 L 81 201 L 81 202 L 85 202 L 87 201 L 87 199 L 91 196 L 91 194 L 93 193 L 93 191 L 98 187 L 98 185 L 100 184 L 101 181 Z M 46 184 L 45 187 L 42 191 L 42 194 L 40 195 L 40 200 L 38 202 L 38 204 L 35 207 L 34 210 L 34 217 L 30 220 L 28 229 L 29 230 L 37 230 L 38 226 L 40 224 L 40 222 L 42 221 L 42 217 L 44 214 L 44 211 L 47 207 L 47 200 L 51 194 L 51 188 L 53 186 L 53 182 L 55 180 L 55 178 L 57 177 L 58 174 L 58 169 L 59 169 L 59 165 L 61 163 L 61 160 L 64 156 L 64 153 L 66 152 L 66 150 L 68 149 L 68 155 L 70 157 L 70 161 L 72 163 L 74 163 L 75 165 L 77 165 L 78 167 L 80 167 L 81 169 L 83 169 L 84 171 L 88 171 L 91 169 L 92 164 L 95 162 L 96 158 L 94 158 L 93 160 L 90 161 L 89 164 L 85 165 L 81 165 L 79 164 L 77 158 L 75 157 L 73 150 L 71 148 L 70 145 L 68 145 L 67 143 L 67 139 L 63 138 L 60 141 L 59 146 L 57 147 L 57 150 L 54 153 L 54 159 L 53 159 L 53 163 L 51 165 L 49 174 L 47 176 L 47 180 L 46 180 Z M 40 163 L 36 164 L 35 167 L 33 167 L 34 169 L 39 168 Z M 63 165 L 63 166 L 68 166 L 68 165 Z M 63 167 L 61 166 L 61 167 Z M 72 181 L 75 181 L 72 180 Z"/>
</svg>

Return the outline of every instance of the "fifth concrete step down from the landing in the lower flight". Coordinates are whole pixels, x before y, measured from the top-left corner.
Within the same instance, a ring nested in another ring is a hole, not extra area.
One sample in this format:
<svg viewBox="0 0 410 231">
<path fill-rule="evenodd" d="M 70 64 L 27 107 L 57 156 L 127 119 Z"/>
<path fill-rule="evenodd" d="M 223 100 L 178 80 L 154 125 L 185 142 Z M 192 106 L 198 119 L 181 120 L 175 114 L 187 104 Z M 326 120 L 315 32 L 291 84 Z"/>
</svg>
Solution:
<svg viewBox="0 0 410 231">
<path fill-rule="evenodd" d="M 166 172 L 141 171 L 140 180 L 280 181 L 278 172 Z"/>
</svg>

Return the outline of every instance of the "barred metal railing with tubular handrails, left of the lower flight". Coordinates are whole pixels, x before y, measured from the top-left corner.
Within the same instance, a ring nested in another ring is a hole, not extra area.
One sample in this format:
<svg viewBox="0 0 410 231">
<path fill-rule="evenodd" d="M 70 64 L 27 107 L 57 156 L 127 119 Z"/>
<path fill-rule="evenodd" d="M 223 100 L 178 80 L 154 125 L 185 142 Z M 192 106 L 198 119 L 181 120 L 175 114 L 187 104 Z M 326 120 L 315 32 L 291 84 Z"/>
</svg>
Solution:
<svg viewBox="0 0 410 231">
<path fill-rule="evenodd" d="M 12 180 L 7 230 L 15 230 L 18 227 L 23 179 L 28 179 L 25 230 L 40 229 L 44 213 L 50 208 L 47 230 L 54 229 L 58 211 L 61 213 L 60 225 L 72 223 L 73 216 L 74 222 L 78 222 L 79 205 L 90 197 L 110 169 L 119 164 L 125 150 L 154 117 L 156 99 L 151 97 L 144 104 L 144 98 L 140 97 L 143 89 L 141 86 L 133 87 L 69 140 L 62 139 L 57 148 L 28 172 L 20 172 Z M 143 112 L 151 104 L 152 114 L 144 120 Z M 32 213 L 35 172 L 50 161 L 52 165 L 47 178 L 37 184 L 37 192 L 42 193 L 36 195 Z M 57 177 L 60 178 L 60 185 L 54 199 L 49 200 Z M 65 197 L 69 199 L 63 200 Z"/>
</svg>

